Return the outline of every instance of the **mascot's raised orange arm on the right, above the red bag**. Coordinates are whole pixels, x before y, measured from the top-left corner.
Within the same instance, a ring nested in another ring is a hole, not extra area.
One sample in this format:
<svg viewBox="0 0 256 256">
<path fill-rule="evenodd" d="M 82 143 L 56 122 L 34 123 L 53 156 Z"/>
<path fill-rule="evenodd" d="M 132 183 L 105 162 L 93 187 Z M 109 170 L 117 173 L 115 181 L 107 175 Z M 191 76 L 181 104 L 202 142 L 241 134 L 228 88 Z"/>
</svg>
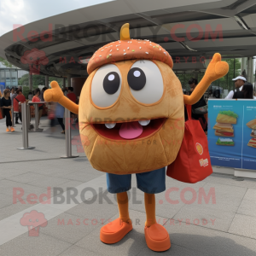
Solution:
<svg viewBox="0 0 256 256">
<path fill-rule="evenodd" d="M 207 88 L 212 84 L 213 81 L 224 77 L 229 72 L 229 64 L 225 61 L 221 61 L 221 55 L 216 53 L 212 57 L 212 61 L 207 67 L 207 71 L 201 82 L 195 87 L 193 93 L 188 96 L 184 95 L 184 103 L 193 105 L 198 102 L 206 92 Z"/>
</svg>

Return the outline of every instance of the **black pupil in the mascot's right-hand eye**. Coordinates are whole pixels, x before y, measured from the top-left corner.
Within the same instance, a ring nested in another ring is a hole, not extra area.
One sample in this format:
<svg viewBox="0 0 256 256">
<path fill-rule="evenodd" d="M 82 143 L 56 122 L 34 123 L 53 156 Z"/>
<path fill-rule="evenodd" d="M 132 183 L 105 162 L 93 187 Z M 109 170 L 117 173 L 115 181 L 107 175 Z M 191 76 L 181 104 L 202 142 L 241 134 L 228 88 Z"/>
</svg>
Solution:
<svg viewBox="0 0 256 256">
<path fill-rule="evenodd" d="M 146 75 L 139 67 L 132 67 L 128 73 L 128 84 L 133 90 L 142 90 L 146 84 Z"/>
</svg>

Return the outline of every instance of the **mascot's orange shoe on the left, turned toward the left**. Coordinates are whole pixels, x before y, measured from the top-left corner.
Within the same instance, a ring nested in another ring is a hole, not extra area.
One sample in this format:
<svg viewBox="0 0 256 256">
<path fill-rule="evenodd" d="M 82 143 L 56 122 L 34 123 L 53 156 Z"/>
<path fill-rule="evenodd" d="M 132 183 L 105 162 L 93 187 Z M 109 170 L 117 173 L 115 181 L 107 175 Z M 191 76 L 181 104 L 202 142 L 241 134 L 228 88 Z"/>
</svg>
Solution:
<svg viewBox="0 0 256 256">
<path fill-rule="evenodd" d="M 106 224 L 101 229 L 100 239 L 104 243 L 116 243 L 121 241 L 124 236 L 132 230 L 131 222 L 128 224 L 120 218 Z"/>
</svg>

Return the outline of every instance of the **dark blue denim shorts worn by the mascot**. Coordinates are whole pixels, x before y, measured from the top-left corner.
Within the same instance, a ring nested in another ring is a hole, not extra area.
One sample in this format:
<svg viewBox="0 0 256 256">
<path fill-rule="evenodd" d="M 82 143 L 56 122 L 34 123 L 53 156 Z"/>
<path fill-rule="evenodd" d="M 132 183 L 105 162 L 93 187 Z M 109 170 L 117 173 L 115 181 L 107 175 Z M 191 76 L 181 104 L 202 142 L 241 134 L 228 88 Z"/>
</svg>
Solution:
<svg viewBox="0 0 256 256">
<path fill-rule="evenodd" d="M 166 190 L 166 167 L 151 172 L 137 173 L 137 188 L 144 193 L 156 194 Z M 131 189 L 131 174 L 107 173 L 109 193 L 121 193 Z"/>
</svg>

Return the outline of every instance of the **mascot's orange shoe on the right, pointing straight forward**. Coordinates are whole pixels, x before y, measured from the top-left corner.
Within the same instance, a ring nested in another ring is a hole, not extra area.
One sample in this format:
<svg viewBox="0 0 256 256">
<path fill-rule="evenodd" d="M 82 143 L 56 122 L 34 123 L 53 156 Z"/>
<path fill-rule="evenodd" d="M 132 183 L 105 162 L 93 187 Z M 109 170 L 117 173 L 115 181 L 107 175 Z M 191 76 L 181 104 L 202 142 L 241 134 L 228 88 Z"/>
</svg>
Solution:
<svg viewBox="0 0 256 256">
<path fill-rule="evenodd" d="M 153 224 L 144 229 L 147 246 L 154 252 L 164 252 L 171 247 L 167 230 L 160 224 Z"/>
</svg>

